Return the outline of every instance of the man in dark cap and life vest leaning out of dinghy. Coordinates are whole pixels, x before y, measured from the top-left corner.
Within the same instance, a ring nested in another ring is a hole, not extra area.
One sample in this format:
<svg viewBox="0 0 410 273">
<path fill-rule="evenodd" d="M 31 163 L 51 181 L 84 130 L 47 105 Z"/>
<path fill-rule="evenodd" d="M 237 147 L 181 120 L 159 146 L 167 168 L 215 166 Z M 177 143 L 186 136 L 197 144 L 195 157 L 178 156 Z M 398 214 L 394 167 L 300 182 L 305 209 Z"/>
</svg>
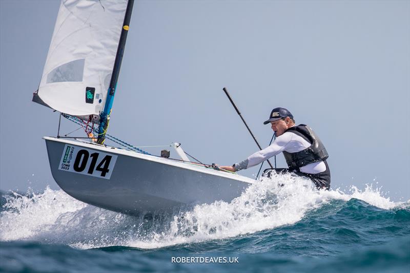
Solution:
<svg viewBox="0 0 410 273">
<path fill-rule="evenodd" d="M 239 163 L 219 168 L 237 172 L 256 166 L 264 160 L 283 153 L 289 169 L 267 169 L 264 174 L 268 170 L 273 170 L 276 173 L 290 172 L 311 179 L 319 189 L 329 190 L 330 170 L 326 162 L 329 155 L 312 128 L 305 124 L 296 125 L 291 112 L 281 107 L 273 109 L 269 119 L 263 122 L 263 124 L 268 123 L 271 123 L 271 128 L 276 136 L 275 141 L 270 146 Z"/>
</svg>

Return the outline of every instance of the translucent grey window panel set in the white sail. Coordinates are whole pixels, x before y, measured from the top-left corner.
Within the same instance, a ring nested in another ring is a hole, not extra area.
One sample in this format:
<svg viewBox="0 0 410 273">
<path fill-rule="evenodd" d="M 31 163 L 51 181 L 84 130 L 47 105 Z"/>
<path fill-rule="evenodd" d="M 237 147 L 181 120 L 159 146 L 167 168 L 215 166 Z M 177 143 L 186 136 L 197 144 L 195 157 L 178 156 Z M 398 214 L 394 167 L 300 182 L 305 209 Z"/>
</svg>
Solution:
<svg viewBox="0 0 410 273">
<path fill-rule="evenodd" d="M 53 69 L 47 75 L 47 83 L 83 81 L 84 63 L 85 59 L 78 59 Z"/>
</svg>

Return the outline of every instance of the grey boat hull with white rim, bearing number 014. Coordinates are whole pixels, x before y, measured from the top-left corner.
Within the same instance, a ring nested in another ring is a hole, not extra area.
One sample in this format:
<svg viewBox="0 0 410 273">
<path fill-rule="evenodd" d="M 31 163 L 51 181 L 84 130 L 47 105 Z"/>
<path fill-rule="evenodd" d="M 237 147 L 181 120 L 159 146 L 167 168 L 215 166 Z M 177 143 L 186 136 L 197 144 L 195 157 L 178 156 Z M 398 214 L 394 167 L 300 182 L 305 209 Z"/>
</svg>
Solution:
<svg viewBox="0 0 410 273">
<path fill-rule="evenodd" d="M 111 211 L 139 214 L 217 200 L 229 202 L 253 182 L 171 159 L 92 143 L 44 139 L 51 173 L 61 189 L 75 199 Z M 92 163 L 94 156 L 99 159 Z M 102 158 L 111 160 L 106 164 Z"/>
</svg>

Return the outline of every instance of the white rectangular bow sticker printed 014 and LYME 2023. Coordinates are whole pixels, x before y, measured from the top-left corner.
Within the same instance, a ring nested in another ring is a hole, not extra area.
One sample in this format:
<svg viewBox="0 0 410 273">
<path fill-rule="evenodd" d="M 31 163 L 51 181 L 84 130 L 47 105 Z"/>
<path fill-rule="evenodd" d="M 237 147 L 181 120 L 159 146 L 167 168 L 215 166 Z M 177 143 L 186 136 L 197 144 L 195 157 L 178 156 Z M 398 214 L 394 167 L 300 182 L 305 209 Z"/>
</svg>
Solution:
<svg viewBox="0 0 410 273">
<path fill-rule="evenodd" d="M 58 170 L 110 179 L 117 156 L 66 144 Z"/>
</svg>

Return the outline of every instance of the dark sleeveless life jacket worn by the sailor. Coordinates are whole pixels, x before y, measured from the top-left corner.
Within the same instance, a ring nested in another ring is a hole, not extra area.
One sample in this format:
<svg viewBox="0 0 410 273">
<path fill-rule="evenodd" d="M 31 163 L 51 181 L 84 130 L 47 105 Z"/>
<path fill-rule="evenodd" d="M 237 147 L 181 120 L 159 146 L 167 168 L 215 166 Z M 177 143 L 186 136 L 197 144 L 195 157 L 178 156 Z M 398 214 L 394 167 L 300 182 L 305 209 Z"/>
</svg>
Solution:
<svg viewBox="0 0 410 273">
<path fill-rule="evenodd" d="M 327 154 L 326 148 L 324 148 L 322 141 L 320 141 L 319 137 L 308 125 L 299 124 L 289 128 L 285 132 L 294 133 L 311 143 L 311 145 L 303 151 L 296 153 L 283 151 L 283 155 L 285 156 L 286 163 L 288 163 L 290 170 L 299 170 L 302 166 L 323 161 L 329 157 L 329 154 Z"/>
</svg>

